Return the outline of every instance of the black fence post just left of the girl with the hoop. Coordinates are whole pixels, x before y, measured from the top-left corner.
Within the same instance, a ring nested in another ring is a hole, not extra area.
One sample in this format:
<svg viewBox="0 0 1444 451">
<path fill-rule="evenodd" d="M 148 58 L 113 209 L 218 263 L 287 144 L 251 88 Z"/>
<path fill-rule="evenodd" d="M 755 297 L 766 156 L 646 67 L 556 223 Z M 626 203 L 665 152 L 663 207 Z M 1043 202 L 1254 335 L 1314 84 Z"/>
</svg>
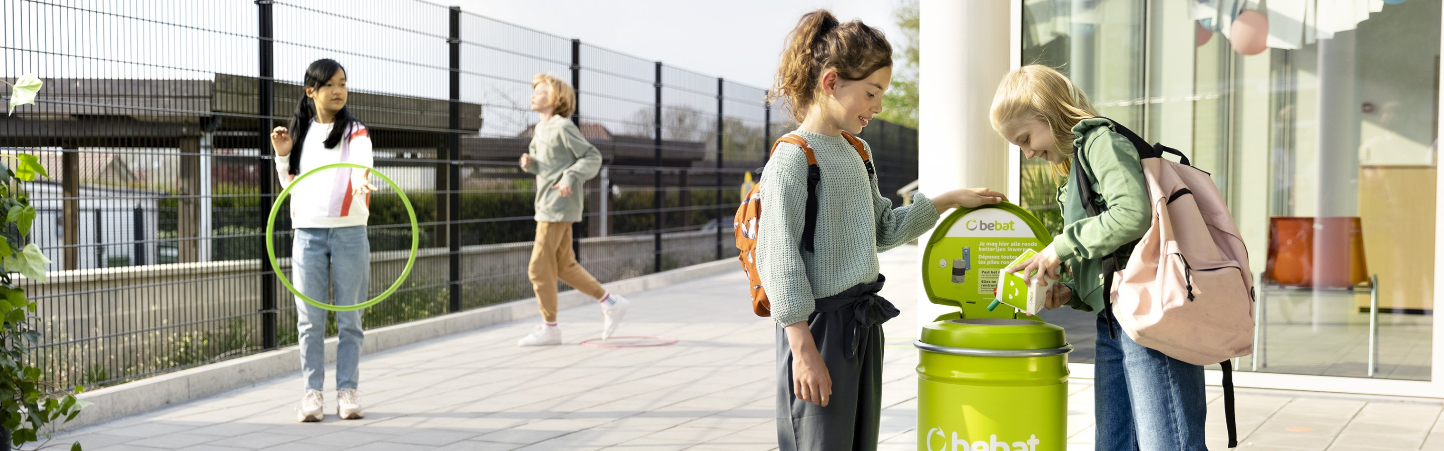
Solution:
<svg viewBox="0 0 1444 451">
<path fill-rule="evenodd" d="M 258 117 L 258 125 L 256 133 L 256 146 L 258 147 L 258 158 L 256 161 L 260 166 L 257 177 L 261 177 L 260 196 L 261 206 L 264 210 L 270 210 L 276 203 L 276 197 L 271 196 L 274 192 L 271 186 L 276 183 L 273 179 L 271 169 L 271 148 L 270 148 L 270 130 L 271 130 L 271 81 L 276 76 L 273 40 L 271 37 L 271 0 L 256 0 L 256 7 L 260 13 L 258 36 L 256 36 L 256 43 L 260 46 L 260 73 L 256 81 L 258 84 L 256 91 L 256 115 Z M 274 239 L 266 236 L 266 239 Z M 261 347 L 276 349 L 277 347 L 277 329 L 276 323 L 280 318 L 280 313 L 276 310 L 276 277 L 270 272 L 270 262 L 261 259 L 260 262 L 260 280 L 261 280 Z"/>
</svg>

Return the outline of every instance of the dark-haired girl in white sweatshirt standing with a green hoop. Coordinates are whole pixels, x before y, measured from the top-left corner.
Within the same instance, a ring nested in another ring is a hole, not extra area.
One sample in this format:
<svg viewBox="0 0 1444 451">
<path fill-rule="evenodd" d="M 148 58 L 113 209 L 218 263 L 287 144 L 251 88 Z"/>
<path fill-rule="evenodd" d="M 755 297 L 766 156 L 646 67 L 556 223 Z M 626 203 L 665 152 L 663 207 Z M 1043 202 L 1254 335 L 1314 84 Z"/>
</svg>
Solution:
<svg viewBox="0 0 1444 451">
<path fill-rule="evenodd" d="M 276 176 L 289 186 L 302 173 L 332 163 L 371 167 L 371 137 L 347 111 L 347 71 L 332 59 L 306 68 L 306 95 L 287 127 L 271 130 Z M 295 138 L 292 138 L 295 135 Z M 292 280 L 312 300 L 336 305 L 365 301 L 371 284 L 371 245 L 367 239 L 371 186 L 367 170 L 328 169 L 292 189 Z M 332 298 L 331 294 L 335 294 Z M 296 329 L 305 392 L 297 409 L 302 422 L 321 421 L 326 376 L 326 310 L 296 298 Z M 361 360 L 361 311 L 338 311 L 336 415 L 364 416 L 357 390 Z"/>
</svg>

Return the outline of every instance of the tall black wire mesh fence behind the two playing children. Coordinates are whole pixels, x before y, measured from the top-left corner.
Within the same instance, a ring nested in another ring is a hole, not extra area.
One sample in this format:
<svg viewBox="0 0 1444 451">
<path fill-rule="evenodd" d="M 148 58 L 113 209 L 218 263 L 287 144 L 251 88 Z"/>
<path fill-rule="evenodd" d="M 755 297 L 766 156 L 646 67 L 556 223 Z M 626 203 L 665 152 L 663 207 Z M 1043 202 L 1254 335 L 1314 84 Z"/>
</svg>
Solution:
<svg viewBox="0 0 1444 451">
<path fill-rule="evenodd" d="M 0 13 L 0 75 L 46 81 L 38 105 L 0 117 L 0 151 L 51 173 L 27 189 L 32 239 L 53 264 L 27 293 L 45 333 L 33 356 L 62 386 L 296 343 L 295 303 L 264 251 L 279 193 L 267 135 L 315 59 L 347 66 L 375 166 L 422 228 L 407 284 L 365 327 L 531 295 L 536 186 L 517 157 L 536 73 L 578 88 L 572 120 L 604 154 L 573 244 L 604 282 L 729 258 L 744 176 L 790 130 L 765 89 L 426 1 L 3 0 Z M 917 133 L 878 121 L 862 137 L 897 199 L 917 177 Z M 410 222 L 374 183 L 380 293 L 400 275 Z M 274 239 L 284 265 L 290 235 Z"/>
</svg>

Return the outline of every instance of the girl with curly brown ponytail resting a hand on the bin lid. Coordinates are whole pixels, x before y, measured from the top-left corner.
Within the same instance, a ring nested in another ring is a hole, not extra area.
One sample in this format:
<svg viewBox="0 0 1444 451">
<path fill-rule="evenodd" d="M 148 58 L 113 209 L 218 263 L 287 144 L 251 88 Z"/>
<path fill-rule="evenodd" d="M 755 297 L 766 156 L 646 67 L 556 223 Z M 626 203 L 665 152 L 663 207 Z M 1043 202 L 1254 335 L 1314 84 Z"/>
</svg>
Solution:
<svg viewBox="0 0 1444 451">
<path fill-rule="evenodd" d="M 875 154 L 852 134 L 882 111 L 891 81 L 892 46 L 882 32 L 816 10 L 787 37 L 768 94 L 800 122 L 773 146 L 757 233 L 757 272 L 777 321 L 781 451 L 878 448 L 882 323 L 900 313 L 878 295 L 878 252 L 917 239 L 952 207 L 1005 200 L 989 189 L 960 189 L 915 193 L 913 205 L 894 209 L 882 197 Z M 822 177 L 814 190 L 812 170 Z"/>
</svg>

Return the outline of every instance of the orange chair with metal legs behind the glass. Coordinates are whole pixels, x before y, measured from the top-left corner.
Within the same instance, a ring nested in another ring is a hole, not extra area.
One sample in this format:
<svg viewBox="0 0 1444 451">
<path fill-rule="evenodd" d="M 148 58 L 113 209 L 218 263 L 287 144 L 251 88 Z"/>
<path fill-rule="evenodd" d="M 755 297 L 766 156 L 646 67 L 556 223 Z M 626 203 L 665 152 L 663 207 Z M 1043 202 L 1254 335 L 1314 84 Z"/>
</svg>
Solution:
<svg viewBox="0 0 1444 451">
<path fill-rule="evenodd" d="M 1268 326 L 1264 293 L 1275 290 L 1369 293 L 1369 376 L 1378 366 L 1378 275 L 1369 275 L 1363 254 L 1363 226 L 1357 216 L 1269 218 L 1268 264 L 1259 277 L 1253 320 L 1253 367 L 1268 366 L 1264 340 Z"/>
</svg>

